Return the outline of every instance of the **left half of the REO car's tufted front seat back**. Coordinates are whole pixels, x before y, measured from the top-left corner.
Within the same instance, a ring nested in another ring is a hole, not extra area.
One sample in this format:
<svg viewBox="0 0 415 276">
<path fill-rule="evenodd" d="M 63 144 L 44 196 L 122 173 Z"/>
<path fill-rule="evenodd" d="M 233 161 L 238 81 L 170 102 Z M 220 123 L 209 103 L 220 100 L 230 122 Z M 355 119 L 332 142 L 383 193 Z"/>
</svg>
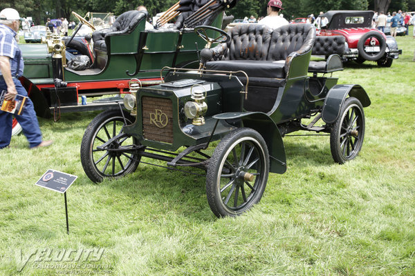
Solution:
<svg viewBox="0 0 415 276">
<path fill-rule="evenodd" d="M 266 60 L 273 30 L 258 24 L 241 24 L 230 30 L 225 59 Z"/>
</svg>

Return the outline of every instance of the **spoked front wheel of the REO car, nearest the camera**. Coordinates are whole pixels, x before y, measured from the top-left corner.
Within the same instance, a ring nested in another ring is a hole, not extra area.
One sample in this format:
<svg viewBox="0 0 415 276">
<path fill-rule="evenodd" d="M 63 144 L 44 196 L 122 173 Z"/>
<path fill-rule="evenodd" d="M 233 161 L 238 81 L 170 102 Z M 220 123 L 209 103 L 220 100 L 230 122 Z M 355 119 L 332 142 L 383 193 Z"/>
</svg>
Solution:
<svg viewBox="0 0 415 276">
<path fill-rule="evenodd" d="M 268 148 L 257 131 L 238 128 L 223 137 L 206 174 L 206 195 L 214 215 L 235 217 L 257 204 L 268 181 L 269 162 Z M 246 172 L 253 175 L 252 181 L 243 179 Z"/>
</svg>

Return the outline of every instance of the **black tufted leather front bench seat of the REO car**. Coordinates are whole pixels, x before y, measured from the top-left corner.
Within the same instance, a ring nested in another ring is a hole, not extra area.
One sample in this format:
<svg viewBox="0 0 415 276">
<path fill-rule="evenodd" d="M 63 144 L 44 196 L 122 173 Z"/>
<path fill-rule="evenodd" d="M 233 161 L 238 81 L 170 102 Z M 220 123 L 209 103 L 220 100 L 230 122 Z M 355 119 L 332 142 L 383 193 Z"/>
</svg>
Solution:
<svg viewBox="0 0 415 276">
<path fill-rule="evenodd" d="M 285 79 L 291 64 L 288 56 L 311 52 L 315 28 L 311 24 L 288 24 L 273 30 L 258 24 L 242 24 L 229 34 L 228 43 L 211 49 L 216 61 L 208 61 L 206 68 L 243 70 L 249 77 Z"/>
</svg>

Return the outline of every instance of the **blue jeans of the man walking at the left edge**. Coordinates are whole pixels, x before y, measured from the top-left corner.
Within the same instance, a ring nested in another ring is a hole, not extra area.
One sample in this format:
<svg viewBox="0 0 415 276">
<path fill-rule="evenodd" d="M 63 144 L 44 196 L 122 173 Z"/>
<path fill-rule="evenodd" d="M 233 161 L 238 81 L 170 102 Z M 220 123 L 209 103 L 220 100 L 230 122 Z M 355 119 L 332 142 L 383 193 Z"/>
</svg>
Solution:
<svg viewBox="0 0 415 276">
<path fill-rule="evenodd" d="M 28 96 L 28 92 L 21 86 L 19 79 L 13 79 L 17 94 L 22 96 Z M 6 90 L 6 81 L 0 80 L 0 92 Z M 23 133 L 29 141 L 30 148 L 42 143 L 42 132 L 40 132 L 39 122 L 37 121 L 36 112 L 33 107 L 33 102 L 28 99 L 26 106 L 21 115 L 15 115 L 15 118 L 19 122 Z M 0 148 L 4 148 L 10 144 L 12 139 L 12 119 L 13 115 L 9 112 L 0 111 Z"/>
</svg>

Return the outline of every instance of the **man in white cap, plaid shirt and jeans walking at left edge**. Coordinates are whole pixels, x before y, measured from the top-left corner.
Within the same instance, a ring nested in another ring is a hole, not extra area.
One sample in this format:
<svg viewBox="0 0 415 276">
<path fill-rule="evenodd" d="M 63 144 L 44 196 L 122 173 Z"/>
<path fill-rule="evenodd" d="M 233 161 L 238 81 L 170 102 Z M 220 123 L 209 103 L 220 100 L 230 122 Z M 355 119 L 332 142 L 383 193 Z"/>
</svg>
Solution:
<svg viewBox="0 0 415 276">
<path fill-rule="evenodd" d="M 17 94 L 28 96 L 21 86 L 19 77 L 23 75 L 23 58 L 15 39 L 19 31 L 21 18 L 19 12 L 6 8 L 0 12 L 0 93 L 7 91 L 4 99 L 14 101 Z M 33 102 L 28 99 L 21 115 L 15 115 L 30 148 L 49 146 L 52 141 L 42 141 Z M 0 111 L 0 148 L 6 148 L 12 139 L 12 114 Z"/>
</svg>

